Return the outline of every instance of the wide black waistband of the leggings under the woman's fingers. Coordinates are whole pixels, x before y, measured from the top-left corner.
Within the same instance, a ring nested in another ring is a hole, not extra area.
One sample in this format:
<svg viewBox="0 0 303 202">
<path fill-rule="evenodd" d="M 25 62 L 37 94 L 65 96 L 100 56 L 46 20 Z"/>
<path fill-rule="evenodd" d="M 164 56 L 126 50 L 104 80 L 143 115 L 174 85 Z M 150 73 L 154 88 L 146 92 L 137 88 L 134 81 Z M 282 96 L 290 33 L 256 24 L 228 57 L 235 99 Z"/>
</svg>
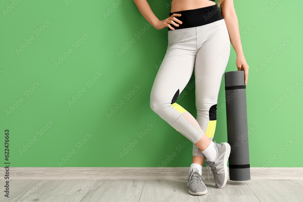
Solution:
<svg viewBox="0 0 303 202">
<path fill-rule="evenodd" d="M 198 27 L 223 19 L 220 8 L 218 7 L 217 4 L 203 8 L 177 11 L 177 12 L 169 13 L 169 16 L 171 16 L 174 13 L 180 13 L 181 16 L 176 16 L 176 18 L 182 21 L 182 24 L 176 22 L 177 24 L 179 24 L 178 27 L 176 27 L 173 24 L 170 24 L 171 27 L 175 29 Z M 172 30 L 172 29 L 168 27 L 168 30 Z"/>
</svg>

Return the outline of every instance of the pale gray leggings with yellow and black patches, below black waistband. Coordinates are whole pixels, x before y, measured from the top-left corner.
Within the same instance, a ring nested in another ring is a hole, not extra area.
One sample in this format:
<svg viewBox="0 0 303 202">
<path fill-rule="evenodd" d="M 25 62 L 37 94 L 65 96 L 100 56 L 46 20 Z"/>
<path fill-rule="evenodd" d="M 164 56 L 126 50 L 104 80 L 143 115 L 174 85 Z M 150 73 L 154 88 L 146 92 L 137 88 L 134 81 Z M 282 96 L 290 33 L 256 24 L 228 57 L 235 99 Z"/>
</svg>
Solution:
<svg viewBox="0 0 303 202">
<path fill-rule="evenodd" d="M 216 105 L 230 54 L 225 20 L 202 26 L 168 30 L 168 47 L 151 89 L 150 107 L 193 142 L 193 156 L 205 156 L 194 144 L 216 127 Z M 197 119 L 176 103 L 195 72 Z"/>
</svg>

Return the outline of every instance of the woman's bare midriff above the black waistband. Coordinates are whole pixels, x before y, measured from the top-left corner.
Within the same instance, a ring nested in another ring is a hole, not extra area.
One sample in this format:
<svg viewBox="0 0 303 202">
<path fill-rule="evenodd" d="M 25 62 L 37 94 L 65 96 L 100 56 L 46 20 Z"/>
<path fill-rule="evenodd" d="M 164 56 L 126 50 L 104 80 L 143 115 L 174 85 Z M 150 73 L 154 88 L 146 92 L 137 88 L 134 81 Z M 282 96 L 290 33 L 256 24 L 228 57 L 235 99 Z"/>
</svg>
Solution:
<svg viewBox="0 0 303 202">
<path fill-rule="evenodd" d="M 172 0 L 171 13 L 216 5 L 210 0 Z"/>
</svg>

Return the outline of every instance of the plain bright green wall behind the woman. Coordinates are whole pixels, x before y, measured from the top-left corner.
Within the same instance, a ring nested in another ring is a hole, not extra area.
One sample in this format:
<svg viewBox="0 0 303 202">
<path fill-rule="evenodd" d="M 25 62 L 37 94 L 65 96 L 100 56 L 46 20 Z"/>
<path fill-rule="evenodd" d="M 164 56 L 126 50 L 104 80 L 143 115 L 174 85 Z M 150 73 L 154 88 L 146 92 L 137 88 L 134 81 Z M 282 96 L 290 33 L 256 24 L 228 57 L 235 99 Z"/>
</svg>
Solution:
<svg viewBox="0 0 303 202">
<path fill-rule="evenodd" d="M 168 18 L 170 0 L 148 2 L 159 19 Z M 303 141 L 302 6 L 301 1 L 235 1 L 250 67 L 251 167 L 303 165 L 298 161 Z M 189 167 L 192 143 L 150 108 L 167 28 L 146 26 L 135 3 L 125 0 L 3 0 L 0 8 L 1 151 L 4 155 L 9 129 L 11 167 L 157 167 L 165 160 L 168 167 Z M 131 46 L 123 52 L 127 44 Z M 231 49 L 226 71 L 237 70 L 235 60 Z M 193 81 L 194 75 L 189 83 Z M 196 117 L 195 90 L 185 90 L 177 102 Z M 224 77 L 216 142 L 227 141 L 222 104 Z M 107 116 L 112 109 L 116 112 Z M 127 147 L 130 151 L 121 156 Z"/>
</svg>

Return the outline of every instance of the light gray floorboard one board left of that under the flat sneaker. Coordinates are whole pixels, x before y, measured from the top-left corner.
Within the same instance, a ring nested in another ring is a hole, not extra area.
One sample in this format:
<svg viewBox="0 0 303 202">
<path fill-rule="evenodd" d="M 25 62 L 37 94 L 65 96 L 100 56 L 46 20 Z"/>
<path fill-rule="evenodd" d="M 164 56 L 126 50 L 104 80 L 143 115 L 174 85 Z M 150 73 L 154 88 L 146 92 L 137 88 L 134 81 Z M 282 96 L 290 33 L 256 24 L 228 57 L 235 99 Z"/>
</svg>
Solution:
<svg viewBox="0 0 303 202">
<path fill-rule="evenodd" d="M 139 201 L 145 180 L 98 180 L 82 198 L 89 201 Z"/>
</svg>

